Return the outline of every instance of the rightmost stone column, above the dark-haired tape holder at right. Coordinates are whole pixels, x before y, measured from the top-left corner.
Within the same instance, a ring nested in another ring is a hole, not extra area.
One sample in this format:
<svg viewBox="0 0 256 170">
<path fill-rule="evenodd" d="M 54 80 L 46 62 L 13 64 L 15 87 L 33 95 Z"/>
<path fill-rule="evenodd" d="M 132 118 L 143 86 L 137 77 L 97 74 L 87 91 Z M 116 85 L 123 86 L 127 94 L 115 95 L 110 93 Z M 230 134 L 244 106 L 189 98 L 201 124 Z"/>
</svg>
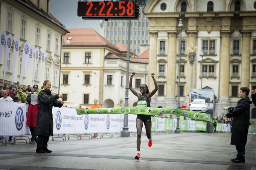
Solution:
<svg viewBox="0 0 256 170">
<path fill-rule="evenodd" d="M 242 34 L 241 87 L 249 87 L 251 31 L 242 31 Z"/>
</svg>

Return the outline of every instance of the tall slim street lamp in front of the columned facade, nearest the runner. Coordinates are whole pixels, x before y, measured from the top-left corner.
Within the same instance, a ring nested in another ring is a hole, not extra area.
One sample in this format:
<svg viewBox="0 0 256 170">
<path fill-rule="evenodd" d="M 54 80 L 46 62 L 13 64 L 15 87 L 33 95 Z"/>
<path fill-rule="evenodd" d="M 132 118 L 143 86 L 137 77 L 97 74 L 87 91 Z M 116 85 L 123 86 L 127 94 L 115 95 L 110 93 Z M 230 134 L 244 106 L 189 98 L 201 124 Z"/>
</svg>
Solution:
<svg viewBox="0 0 256 170">
<path fill-rule="evenodd" d="M 179 81 L 178 81 L 178 109 L 180 108 L 180 68 L 181 68 L 181 33 L 182 33 L 182 19 L 180 18 L 178 27 L 180 27 L 180 59 L 179 59 Z M 180 133 L 180 116 L 177 116 L 177 127 L 175 133 Z"/>
</svg>

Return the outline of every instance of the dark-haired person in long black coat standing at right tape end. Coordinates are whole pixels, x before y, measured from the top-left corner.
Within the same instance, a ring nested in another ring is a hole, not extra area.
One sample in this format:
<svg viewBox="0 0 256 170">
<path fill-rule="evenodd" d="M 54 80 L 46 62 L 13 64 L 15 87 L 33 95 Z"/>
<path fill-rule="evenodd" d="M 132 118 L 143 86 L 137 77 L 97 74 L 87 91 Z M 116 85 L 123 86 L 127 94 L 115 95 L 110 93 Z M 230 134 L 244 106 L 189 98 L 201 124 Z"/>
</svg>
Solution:
<svg viewBox="0 0 256 170">
<path fill-rule="evenodd" d="M 229 113 L 223 116 L 224 120 L 233 117 L 231 129 L 231 142 L 236 146 L 238 154 L 235 159 L 231 159 L 235 163 L 245 163 L 245 145 L 247 142 L 247 134 L 250 120 L 250 104 L 252 103 L 248 98 L 250 89 L 248 87 L 241 87 L 239 90 L 239 97 L 241 98 L 236 107 L 224 107 L 223 110 L 228 110 Z"/>
</svg>

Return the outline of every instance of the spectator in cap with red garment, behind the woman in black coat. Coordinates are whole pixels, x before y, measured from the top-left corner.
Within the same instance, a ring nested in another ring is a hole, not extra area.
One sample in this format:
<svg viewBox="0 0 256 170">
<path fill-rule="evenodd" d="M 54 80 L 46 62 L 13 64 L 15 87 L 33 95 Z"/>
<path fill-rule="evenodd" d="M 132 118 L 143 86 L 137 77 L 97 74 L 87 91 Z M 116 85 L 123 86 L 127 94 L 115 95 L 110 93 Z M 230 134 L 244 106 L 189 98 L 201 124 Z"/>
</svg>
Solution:
<svg viewBox="0 0 256 170">
<path fill-rule="evenodd" d="M 27 90 L 26 90 L 27 91 Z M 37 94 L 38 92 L 38 85 L 35 84 L 33 86 L 33 94 Z M 29 143 L 37 143 L 37 104 L 31 104 L 31 95 L 32 93 L 29 93 L 27 95 L 26 101 L 29 104 L 29 109 L 27 111 L 27 126 L 29 126 L 29 130 L 31 133 L 31 138 Z"/>
</svg>

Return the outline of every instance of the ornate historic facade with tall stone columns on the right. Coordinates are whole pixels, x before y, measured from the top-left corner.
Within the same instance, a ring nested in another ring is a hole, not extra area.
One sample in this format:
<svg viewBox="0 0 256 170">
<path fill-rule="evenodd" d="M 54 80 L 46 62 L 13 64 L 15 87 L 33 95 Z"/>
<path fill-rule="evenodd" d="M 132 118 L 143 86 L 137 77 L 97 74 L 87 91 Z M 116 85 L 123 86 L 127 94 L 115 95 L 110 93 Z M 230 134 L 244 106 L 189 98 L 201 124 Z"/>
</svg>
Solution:
<svg viewBox="0 0 256 170">
<path fill-rule="evenodd" d="M 224 106 L 236 105 L 240 87 L 256 88 L 255 0 L 149 0 L 144 12 L 150 23 L 148 74 L 157 72 L 163 88 L 152 107 L 177 107 L 180 45 L 181 104 L 189 102 L 190 89 L 201 89 L 202 72 L 202 87 L 214 90 L 217 116 Z M 188 60 L 191 52 L 194 64 Z"/>
</svg>

